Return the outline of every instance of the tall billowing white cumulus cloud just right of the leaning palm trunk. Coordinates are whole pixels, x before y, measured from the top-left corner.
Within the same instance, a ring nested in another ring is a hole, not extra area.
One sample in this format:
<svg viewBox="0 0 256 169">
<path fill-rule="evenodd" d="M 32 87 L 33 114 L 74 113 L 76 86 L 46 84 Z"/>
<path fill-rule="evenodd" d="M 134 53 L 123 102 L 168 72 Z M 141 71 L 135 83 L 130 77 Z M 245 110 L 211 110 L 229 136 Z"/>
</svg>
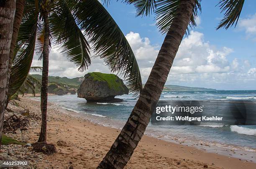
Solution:
<svg viewBox="0 0 256 169">
<path fill-rule="evenodd" d="M 190 35 L 181 42 L 172 73 L 212 73 L 227 72 L 230 63 L 226 56 L 233 52 L 228 47 L 216 50 L 205 42 L 203 34 L 191 31 Z"/>
</svg>

